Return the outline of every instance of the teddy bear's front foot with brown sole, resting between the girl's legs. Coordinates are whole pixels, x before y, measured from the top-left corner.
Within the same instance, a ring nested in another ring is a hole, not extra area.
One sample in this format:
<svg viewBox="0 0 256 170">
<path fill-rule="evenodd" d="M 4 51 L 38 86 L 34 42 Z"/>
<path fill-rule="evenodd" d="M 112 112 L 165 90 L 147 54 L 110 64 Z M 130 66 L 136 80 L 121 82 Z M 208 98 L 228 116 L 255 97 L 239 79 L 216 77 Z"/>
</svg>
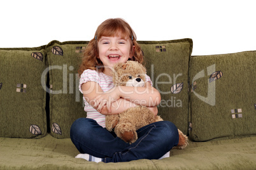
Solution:
<svg viewBox="0 0 256 170">
<path fill-rule="evenodd" d="M 115 128 L 115 133 L 118 138 L 121 138 L 125 142 L 134 143 L 138 140 L 135 126 L 132 126 L 130 122 L 120 123 Z"/>
</svg>

